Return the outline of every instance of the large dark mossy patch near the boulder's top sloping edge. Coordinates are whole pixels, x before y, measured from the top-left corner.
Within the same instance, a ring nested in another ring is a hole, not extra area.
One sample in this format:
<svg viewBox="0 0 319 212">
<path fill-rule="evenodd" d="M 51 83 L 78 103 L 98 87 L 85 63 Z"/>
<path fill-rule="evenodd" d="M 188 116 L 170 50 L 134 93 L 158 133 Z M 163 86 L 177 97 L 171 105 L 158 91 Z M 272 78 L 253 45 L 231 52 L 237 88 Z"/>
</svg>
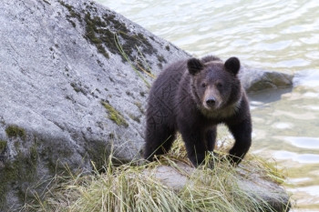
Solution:
<svg viewBox="0 0 319 212">
<path fill-rule="evenodd" d="M 67 5 L 61 0 L 59 3 L 67 8 L 67 21 L 76 26 L 74 18 L 77 18 L 80 24 L 84 24 L 84 37 L 107 59 L 110 58 L 109 53 L 112 53 L 121 56 L 123 62 L 130 62 L 137 58 L 138 49 L 140 54 L 152 55 L 158 52 L 149 43 L 149 38 L 141 33 L 131 32 L 125 22 L 118 20 L 110 11 L 104 15 L 94 15 L 98 13 L 98 9 L 92 6 L 94 4 L 84 3 L 85 9 L 79 13 L 72 5 Z"/>
</svg>

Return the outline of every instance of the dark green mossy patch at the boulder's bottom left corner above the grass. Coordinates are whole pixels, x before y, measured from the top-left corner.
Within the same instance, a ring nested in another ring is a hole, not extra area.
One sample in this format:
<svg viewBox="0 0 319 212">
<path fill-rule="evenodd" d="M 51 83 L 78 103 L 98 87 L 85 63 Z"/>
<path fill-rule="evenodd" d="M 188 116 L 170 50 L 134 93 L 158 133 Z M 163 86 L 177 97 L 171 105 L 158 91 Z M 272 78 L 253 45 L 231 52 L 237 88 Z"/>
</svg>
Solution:
<svg viewBox="0 0 319 212">
<path fill-rule="evenodd" d="M 1 167 L 0 211 L 11 211 L 9 207 L 12 206 L 8 205 L 10 195 L 18 198 L 20 203 L 36 202 L 38 200 L 35 199 L 36 192 L 40 194 L 48 186 L 47 177 L 56 175 L 62 177 L 70 173 L 71 169 L 64 161 L 72 156 L 73 150 L 63 144 L 43 140 L 36 135 L 28 136 L 28 139 L 31 140 L 31 138 L 34 141 L 31 146 L 15 141 L 15 157 L 6 160 L 4 167 Z M 39 173 L 43 175 L 40 176 Z M 40 178 L 41 181 L 39 181 Z"/>
</svg>

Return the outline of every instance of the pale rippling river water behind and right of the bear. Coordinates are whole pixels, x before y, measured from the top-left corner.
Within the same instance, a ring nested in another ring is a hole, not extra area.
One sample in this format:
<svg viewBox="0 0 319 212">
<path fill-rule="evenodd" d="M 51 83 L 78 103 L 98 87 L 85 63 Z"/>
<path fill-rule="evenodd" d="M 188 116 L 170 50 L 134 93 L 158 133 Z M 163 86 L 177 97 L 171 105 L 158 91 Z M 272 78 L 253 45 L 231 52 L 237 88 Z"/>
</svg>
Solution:
<svg viewBox="0 0 319 212">
<path fill-rule="evenodd" d="M 295 75 L 293 90 L 251 97 L 254 154 L 287 176 L 293 211 L 319 211 L 319 2 L 98 0 L 194 56 Z"/>
</svg>

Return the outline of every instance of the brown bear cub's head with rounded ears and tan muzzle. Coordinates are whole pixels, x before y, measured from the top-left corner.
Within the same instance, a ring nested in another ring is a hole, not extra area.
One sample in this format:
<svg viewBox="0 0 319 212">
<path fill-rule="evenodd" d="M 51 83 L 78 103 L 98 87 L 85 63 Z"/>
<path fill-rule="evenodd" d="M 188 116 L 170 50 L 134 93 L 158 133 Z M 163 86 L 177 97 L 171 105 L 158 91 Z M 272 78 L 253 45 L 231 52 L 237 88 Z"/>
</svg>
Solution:
<svg viewBox="0 0 319 212">
<path fill-rule="evenodd" d="M 238 105 L 242 86 L 237 76 L 241 67 L 237 57 L 231 57 L 225 63 L 217 57 L 191 58 L 187 66 L 192 97 L 204 114 L 222 113 L 224 109 Z"/>
</svg>

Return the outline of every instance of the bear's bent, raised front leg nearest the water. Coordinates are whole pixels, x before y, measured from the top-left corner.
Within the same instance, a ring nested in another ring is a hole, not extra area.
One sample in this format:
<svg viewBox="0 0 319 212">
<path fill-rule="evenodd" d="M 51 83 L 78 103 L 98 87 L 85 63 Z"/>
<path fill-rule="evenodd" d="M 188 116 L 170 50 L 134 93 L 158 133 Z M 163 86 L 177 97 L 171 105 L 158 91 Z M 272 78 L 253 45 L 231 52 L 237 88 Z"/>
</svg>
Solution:
<svg viewBox="0 0 319 212">
<path fill-rule="evenodd" d="M 252 120 L 250 117 L 242 122 L 227 125 L 235 138 L 235 144 L 230 150 L 230 161 L 239 164 L 252 145 Z"/>
</svg>

